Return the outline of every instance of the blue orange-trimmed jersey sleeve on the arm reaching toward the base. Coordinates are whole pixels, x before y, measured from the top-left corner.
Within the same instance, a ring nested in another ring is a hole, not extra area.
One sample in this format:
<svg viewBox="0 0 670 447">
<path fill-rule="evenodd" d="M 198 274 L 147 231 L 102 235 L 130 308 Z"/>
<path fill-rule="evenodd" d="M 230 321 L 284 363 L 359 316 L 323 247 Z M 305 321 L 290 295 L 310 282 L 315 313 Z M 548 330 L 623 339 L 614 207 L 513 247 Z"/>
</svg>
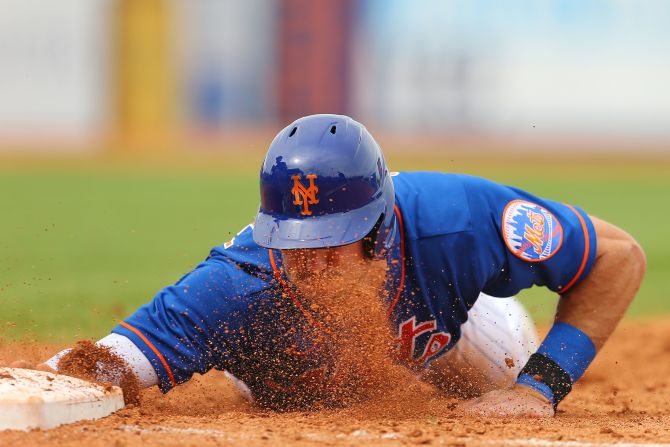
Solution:
<svg viewBox="0 0 670 447">
<path fill-rule="evenodd" d="M 163 392 L 196 372 L 225 369 L 235 362 L 251 292 L 262 287 L 262 281 L 212 253 L 112 330 L 128 337 L 146 355 Z M 241 287 L 249 293 L 241 293 Z"/>
</svg>

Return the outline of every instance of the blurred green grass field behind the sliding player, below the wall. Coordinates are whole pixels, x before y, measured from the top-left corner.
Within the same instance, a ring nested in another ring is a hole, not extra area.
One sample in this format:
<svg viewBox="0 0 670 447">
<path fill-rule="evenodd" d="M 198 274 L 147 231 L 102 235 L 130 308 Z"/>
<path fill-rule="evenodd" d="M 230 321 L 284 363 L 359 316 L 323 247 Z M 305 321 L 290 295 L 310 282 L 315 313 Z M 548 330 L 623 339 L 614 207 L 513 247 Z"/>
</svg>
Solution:
<svg viewBox="0 0 670 447">
<path fill-rule="evenodd" d="M 484 175 L 570 202 L 633 234 L 648 273 L 629 315 L 670 312 L 667 162 L 549 164 L 390 157 L 395 169 Z M 100 337 L 253 219 L 256 160 L 0 170 L 0 337 Z M 616 293 L 616 291 L 612 291 Z M 552 294 L 522 294 L 539 319 Z"/>
</svg>

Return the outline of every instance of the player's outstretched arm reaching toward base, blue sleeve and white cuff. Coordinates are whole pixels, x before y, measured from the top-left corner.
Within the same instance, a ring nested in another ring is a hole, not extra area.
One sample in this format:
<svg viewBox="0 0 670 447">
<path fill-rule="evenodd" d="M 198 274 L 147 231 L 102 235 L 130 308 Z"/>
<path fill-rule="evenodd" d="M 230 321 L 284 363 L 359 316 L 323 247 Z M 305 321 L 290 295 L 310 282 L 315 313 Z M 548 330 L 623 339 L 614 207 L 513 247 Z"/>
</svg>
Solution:
<svg viewBox="0 0 670 447">
<path fill-rule="evenodd" d="M 194 373 L 229 368 L 246 349 L 243 334 L 248 329 L 251 302 L 255 291 L 267 286 L 267 272 L 271 271 L 266 251 L 252 241 L 250 226 L 236 239 L 235 244 L 215 247 L 193 271 L 160 290 L 150 303 L 112 329 L 97 343 L 98 352 L 120 357 L 140 386 L 158 385 L 163 392 Z M 36 368 L 58 369 L 66 353 Z M 100 380 L 115 383 L 120 379 L 110 377 L 104 364 L 99 365 Z M 15 362 L 14 366 L 30 365 Z"/>
</svg>

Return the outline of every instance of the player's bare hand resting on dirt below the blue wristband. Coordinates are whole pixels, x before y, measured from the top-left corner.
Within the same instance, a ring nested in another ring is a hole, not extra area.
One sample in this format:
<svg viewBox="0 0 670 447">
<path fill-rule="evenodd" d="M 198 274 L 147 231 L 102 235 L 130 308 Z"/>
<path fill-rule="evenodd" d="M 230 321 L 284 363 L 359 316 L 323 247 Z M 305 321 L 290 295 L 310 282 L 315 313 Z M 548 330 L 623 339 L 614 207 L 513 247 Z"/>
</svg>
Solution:
<svg viewBox="0 0 670 447">
<path fill-rule="evenodd" d="M 554 408 L 551 402 L 537 391 L 526 386 L 515 385 L 509 390 L 493 390 L 477 399 L 462 403 L 459 411 L 478 416 L 531 416 L 551 417 Z"/>
</svg>

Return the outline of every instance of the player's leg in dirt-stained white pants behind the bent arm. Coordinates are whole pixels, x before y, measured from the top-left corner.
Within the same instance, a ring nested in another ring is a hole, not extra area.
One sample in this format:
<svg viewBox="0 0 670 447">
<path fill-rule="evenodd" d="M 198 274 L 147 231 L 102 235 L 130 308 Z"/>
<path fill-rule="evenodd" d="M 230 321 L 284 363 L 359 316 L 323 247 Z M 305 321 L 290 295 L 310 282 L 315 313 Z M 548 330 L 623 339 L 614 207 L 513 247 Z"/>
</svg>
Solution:
<svg viewBox="0 0 670 447">
<path fill-rule="evenodd" d="M 481 294 L 461 339 L 423 378 L 451 395 L 478 396 L 512 384 L 537 346 L 535 325 L 516 298 Z"/>
</svg>

